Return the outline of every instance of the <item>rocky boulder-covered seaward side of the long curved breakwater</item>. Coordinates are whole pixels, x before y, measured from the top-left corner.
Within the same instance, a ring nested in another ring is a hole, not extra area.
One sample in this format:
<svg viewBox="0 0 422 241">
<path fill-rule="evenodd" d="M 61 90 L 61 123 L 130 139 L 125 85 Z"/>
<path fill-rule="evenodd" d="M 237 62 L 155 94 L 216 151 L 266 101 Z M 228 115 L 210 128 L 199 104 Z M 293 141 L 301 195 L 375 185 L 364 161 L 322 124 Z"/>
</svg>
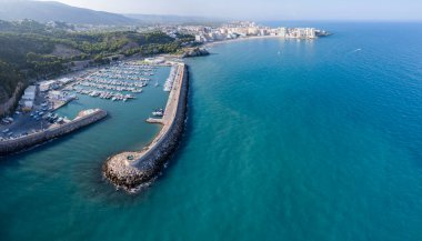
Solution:
<svg viewBox="0 0 422 241">
<path fill-rule="evenodd" d="M 164 163 L 175 151 L 183 134 L 187 117 L 189 90 L 189 73 L 187 66 L 183 67 L 182 79 L 177 109 L 171 121 L 168 123 L 169 127 L 164 130 L 164 133 L 159 133 L 154 141 L 148 147 L 147 152 L 133 163 L 129 165 L 124 165 L 123 163 L 118 165 L 110 164 L 109 162 L 112 162 L 113 158 L 115 158 L 112 157 L 103 165 L 104 175 L 115 185 L 130 190 L 151 181 L 160 173 Z M 122 162 L 121 160 L 119 161 Z"/>
</svg>

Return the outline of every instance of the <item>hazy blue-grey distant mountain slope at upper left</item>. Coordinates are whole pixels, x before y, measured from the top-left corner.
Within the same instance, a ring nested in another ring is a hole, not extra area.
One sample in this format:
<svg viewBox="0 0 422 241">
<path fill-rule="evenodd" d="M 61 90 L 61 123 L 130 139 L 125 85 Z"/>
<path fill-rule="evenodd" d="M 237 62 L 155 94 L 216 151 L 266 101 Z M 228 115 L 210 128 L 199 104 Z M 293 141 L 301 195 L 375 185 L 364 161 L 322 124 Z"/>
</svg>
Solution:
<svg viewBox="0 0 422 241">
<path fill-rule="evenodd" d="M 0 19 L 39 22 L 61 21 L 73 24 L 131 26 L 138 20 L 103 11 L 77 8 L 54 1 L 0 0 Z"/>
</svg>

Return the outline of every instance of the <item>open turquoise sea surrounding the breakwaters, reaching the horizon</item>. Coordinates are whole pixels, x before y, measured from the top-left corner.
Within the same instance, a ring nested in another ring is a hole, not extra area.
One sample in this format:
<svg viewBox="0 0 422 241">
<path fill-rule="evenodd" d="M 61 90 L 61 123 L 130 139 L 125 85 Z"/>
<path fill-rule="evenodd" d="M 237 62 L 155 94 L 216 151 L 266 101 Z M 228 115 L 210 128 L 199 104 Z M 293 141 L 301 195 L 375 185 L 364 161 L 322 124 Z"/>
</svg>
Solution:
<svg viewBox="0 0 422 241">
<path fill-rule="evenodd" d="M 1 240 L 422 240 L 422 24 L 316 24 L 188 60 L 188 130 L 143 193 L 100 173 L 157 133 L 141 102 L 1 160 Z"/>
</svg>

